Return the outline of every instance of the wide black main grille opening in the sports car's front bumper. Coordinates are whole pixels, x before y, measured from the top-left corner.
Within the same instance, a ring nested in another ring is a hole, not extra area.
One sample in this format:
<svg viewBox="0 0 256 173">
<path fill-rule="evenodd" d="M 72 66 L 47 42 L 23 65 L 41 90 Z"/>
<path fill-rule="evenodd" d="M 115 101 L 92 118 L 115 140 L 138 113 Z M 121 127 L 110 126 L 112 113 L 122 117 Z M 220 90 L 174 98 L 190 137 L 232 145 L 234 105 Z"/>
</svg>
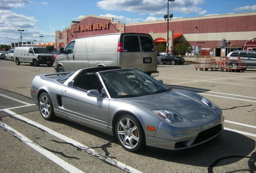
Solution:
<svg viewBox="0 0 256 173">
<path fill-rule="evenodd" d="M 206 131 L 202 131 L 197 135 L 196 140 L 194 141 L 194 144 L 206 141 L 207 139 L 221 133 L 221 131 L 222 131 L 221 124 L 219 124 L 215 127 L 212 127 L 211 129 L 207 129 Z"/>
</svg>

